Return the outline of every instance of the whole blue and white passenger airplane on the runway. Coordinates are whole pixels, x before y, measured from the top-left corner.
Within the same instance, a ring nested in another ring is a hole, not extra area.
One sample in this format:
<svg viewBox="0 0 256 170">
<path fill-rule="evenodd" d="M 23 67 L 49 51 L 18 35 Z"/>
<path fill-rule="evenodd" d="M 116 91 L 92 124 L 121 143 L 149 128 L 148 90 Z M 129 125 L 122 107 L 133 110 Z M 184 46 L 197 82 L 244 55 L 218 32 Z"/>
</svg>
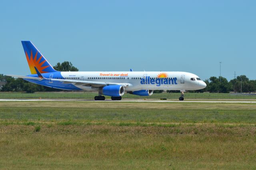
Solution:
<svg viewBox="0 0 256 170">
<path fill-rule="evenodd" d="M 180 101 L 187 90 L 199 90 L 206 83 L 197 75 L 182 71 L 57 71 L 30 41 L 22 41 L 30 75 L 8 75 L 31 83 L 72 91 L 98 91 L 94 99 L 121 100 L 124 93 L 150 96 L 154 90 L 180 90 Z"/>
</svg>

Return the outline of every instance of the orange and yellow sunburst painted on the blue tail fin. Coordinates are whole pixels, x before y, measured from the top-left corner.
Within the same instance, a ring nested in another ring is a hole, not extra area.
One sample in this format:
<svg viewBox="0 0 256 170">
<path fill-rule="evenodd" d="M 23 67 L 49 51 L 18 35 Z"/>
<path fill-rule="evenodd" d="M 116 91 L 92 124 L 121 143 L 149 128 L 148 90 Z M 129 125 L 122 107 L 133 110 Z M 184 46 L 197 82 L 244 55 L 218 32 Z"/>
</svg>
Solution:
<svg viewBox="0 0 256 170">
<path fill-rule="evenodd" d="M 36 70 L 35 70 L 34 67 L 36 67 L 40 73 L 48 73 L 48 72 L 43 71 L 43 70 L 46 69 L 47 67 L 49 67 L 50 65 L 42 66 L 46 61 L 46 60 L 44 60 L 40 63 L 40 60 L 43 57 L 42 55 L 37 59 L 37 53 L 38 52 L 36 52 L 34 57 L 33 57 L 32 50 L 31 50 L 30 57 L 28 57 L 27 51 L 25 51 L 25 53 L 26 53 L 26 58 L 27 58 L 27 61 L 28 61 L 28 66 L 30 68 L 31 74 L 36 74 Z"/>
</svg>

